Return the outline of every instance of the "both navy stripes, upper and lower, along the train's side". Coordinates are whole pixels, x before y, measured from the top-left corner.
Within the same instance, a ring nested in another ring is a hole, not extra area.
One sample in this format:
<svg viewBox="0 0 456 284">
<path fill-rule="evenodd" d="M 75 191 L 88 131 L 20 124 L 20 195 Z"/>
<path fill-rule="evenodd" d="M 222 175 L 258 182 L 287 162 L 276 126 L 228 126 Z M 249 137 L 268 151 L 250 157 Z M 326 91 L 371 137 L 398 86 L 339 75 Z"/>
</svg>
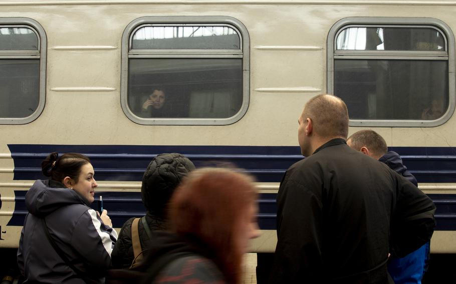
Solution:
<svg viewBox="0 0 456 284">
<path fill-rule="evenodd" d="M 97 180 L 140 181 L 149 161 L 162 152 L 179 152 L 197 167 L 231 163 L 256 176 L 258 181 L 279 182 L 285 170 L 302 158 L 298 146 L 146 146 L 146 145 L 8 145 L 14 159 L 14 179 L 45 178 L 41 161 L 52 151 L 87 154 Z M 456 182 L 455 147 L 391 147 L 418 182 Z M 16 208 L 9 225 L 22 225 L 27 213 L 26 191 L 16 190 Z M 139 192 L 99 192 L 116 227 L 130 217 L 144 214 Z M 437 205 L 437 230 L 456 230 L 456 194 L 429 194 Z M 276 194 L 259 198 L 262 229 L 276 228 Z"/>
</svg>

